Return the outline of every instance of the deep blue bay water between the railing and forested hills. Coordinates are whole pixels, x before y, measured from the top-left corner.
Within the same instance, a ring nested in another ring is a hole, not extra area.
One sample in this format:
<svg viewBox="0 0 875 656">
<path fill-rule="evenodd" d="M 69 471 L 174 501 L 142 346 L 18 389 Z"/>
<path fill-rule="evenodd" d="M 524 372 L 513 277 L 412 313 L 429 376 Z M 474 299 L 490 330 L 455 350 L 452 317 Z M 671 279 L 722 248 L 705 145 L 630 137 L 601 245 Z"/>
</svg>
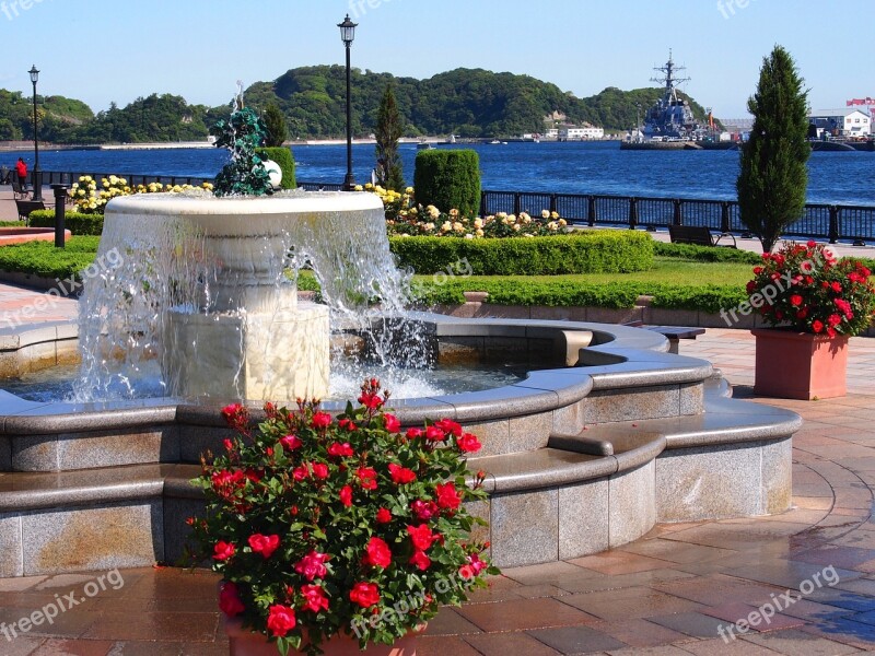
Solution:
<svg viewBox="0 0 875 656">
<path fill-rule="evenodd" d="M 620 151 L 616 141 L 438 148 L 474 148 L 480 155 L 483 189 L 490 190 L 732 199 L 738 172 L 737 151 Z M 343 180 L 345 147 L 299 145 L 292 150 L 299 179 Z M 0 165 L 12 166 L 19 154 L 0 153 Z M 352 155 L 355 179 L 369 181 L 374 147 L 355 145 Z M 408 184 L 412 184 L 416 155 L 415 144 L 401 145 Z M 23 156 L 33 164 L 33 152 Z M 44 171 L 197 177 L 213 177 L 226 159 L 218 149 L 39 153 Z M 808 169 L 809 202 L 875 204 L 875 153 L 816 152 Z"/>
</svg>

